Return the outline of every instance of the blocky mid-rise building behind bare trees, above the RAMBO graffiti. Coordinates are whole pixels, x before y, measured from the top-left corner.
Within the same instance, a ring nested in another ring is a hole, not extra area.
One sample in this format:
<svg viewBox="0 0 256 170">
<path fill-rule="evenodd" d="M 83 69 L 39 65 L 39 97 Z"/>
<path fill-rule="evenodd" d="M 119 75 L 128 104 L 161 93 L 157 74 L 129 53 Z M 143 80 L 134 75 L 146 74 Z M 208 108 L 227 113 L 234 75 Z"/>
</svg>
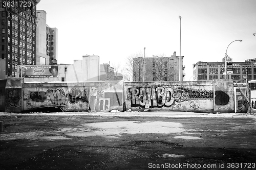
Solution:
<svg viewBox="0 0 256 170">
<path fill-rule="evenodd" d="M 183 63 L 183 57 L 181 63 Z M 179 59 L 176 52 L 171 57 L 135 57 L 133 58 L 133 81 L 143 81 L 143 77 L 144 81 L 179 81 Z M 182 75 L 185 76 L 183 73 Z"/>
</svg>

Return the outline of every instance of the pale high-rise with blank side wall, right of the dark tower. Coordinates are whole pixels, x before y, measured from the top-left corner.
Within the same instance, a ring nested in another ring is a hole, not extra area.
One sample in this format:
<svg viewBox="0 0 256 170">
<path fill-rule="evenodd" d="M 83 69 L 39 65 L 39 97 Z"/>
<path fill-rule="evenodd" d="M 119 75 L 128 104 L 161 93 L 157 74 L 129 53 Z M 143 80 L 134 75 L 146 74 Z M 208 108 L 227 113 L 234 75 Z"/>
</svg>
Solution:
<svg viewBox="0 0 256 170">
<path fill-rule="evenodd" d="M 46 11 L 37 10 L 37 32 L 36 32 L 36 46 L 37 46 L 37 64 L 57 64 L 58 60 L 58 29 L 51 28 L 46 23 Z"/>
</svg>

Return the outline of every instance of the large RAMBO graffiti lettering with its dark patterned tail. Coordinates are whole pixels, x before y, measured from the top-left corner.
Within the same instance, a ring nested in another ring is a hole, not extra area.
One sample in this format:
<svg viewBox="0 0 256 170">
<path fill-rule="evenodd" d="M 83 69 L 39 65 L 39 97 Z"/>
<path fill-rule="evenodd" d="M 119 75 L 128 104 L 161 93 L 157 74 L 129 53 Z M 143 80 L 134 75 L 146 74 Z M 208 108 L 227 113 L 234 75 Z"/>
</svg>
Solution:
<svg viewBox="0 0 256 170">
<path fill-rule="evenodd" d="M 212 90 L 197 90 L 183 87 L 140 87 L 129 88 L 126 91 L 127 100 L 131 100 L 131 106 L 145 106 L 149 104 L 151 107 L 182 107 L 182 102 L 191 101 L 189 105 L 195 109 L 199 108 L 198 100 L 213 100 Z"/>
</svg>

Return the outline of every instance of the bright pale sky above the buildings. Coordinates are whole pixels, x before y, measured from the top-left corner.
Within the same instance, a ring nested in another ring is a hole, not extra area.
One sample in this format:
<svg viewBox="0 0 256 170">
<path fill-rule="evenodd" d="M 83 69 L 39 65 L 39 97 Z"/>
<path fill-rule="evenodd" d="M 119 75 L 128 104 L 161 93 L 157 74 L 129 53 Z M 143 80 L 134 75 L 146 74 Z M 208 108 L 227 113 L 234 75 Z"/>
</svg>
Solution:
<svg viewBox="0 0 256 170">
<path fill-rule="evenodd" d="M 58 29 L 58 64 L 83 55 L 124 65 L 135 54 L 184 56 L 185 81 L 193 63 L 256 58 L 255 0 L 41 0 L 47 24 Z M 192 79 L 190 79 L 192 80 Z"/>
</svg>

